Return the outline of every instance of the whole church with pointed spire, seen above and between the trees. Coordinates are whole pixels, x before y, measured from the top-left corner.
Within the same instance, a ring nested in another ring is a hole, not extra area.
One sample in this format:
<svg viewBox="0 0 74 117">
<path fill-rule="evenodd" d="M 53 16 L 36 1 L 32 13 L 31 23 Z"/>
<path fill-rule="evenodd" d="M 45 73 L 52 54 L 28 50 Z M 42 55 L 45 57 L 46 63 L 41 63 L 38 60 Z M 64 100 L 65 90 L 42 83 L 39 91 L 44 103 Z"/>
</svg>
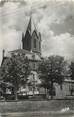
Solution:
<svg viewBox="0 0 74 117">
<path fill-rule="evenodd" d="M 5 50 L 3 50 L 3 60 L 2 64 L 6 64 L 9 57 L 17 56 L 17 55 L 24 55 L 24 57 L 27 57 L 29 60 L 29 65 L 31 68 L 31 75 L 29 76 L 29 82 L 30 80 L 34 80 L 36 83 L 41 83 L 38 75 L 37 75 L 37 68 L 39 63 L 41 62 L 41 33 L 38 32 L 36 26 L 32 22 L 32 18 L 30 17 L 26 31 L 22 32 L 22 39 L 21 39 L 21 47 L 19 49 L 8 51 L 8 56 L 5 56 Z M 1 83 L 2 84 L 2 83 Z M 6 84 L 6 83 L 5 83 Z M 4 84 L 3 84 L 4 85 Z M 10 92 L 11 86 L 8 88 L 6 87 L 6 91 L 9 90 Z M 23 87 L 26 89 L 26 87 Z M 39 93 L 37 90 L 38 87 L 35 87 L 35 93 Z M 28 92 L 31 94 L 32 86 L 28 86 Z M 22 86 L 20 87 L 20 91 L 22 90 Z M 8 93 L 8 92 L 6 92 Z"/>
</svg>

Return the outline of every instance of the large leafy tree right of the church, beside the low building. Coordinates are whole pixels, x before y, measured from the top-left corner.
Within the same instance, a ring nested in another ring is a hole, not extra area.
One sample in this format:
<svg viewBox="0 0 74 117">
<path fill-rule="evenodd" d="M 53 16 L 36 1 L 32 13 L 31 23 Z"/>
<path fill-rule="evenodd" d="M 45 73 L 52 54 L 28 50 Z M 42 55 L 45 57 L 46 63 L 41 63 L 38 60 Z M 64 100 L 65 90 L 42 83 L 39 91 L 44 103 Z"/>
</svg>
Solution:
<svg viewBox="0 0 74 117">
<path fill-rule="evenodd" d="M 42 60 L 38 71 L 42 85 L 50 91 L 51 99 L 53 98 L 53 83 L 58 83 L 62 89 L 64 79 L 70 74 L 69 65 L 61 56 L 50 56 Z"/>
</svg>

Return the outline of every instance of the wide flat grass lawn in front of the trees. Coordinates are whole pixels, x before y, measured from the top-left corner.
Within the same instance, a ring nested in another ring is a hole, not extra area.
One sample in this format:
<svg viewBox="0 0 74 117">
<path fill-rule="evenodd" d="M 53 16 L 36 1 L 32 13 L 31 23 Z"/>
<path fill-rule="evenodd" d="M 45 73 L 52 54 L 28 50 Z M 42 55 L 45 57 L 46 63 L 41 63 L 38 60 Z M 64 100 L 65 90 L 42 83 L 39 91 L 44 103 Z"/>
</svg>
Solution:
<svg viewBox="0 0 74 117">
<path fill-rule="evenodd" d="M 60 111 L 65 107 L 74 110 L 74 100 L 0 102 L 0 112 L 3 113 Z"/>
</svg>

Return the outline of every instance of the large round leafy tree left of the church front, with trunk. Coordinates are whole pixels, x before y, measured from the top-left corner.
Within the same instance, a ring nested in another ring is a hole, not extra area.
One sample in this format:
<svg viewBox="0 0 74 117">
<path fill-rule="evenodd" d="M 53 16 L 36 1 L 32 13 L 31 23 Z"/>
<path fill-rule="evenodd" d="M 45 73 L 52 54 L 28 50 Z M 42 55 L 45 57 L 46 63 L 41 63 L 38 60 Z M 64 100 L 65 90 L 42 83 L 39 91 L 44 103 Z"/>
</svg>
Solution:
<svg viewBox="0 0 74 117">
<path fill-rule="evenodd" d="M 2 64 L 2 78 L 5 82 L 10 82 L 15 87 L 15 98 L 17 99 L 17 90 L 19 85 L 27 82 L 30 74 L 29 61 L 25 55 L 12 56 Z"/>
</svg>

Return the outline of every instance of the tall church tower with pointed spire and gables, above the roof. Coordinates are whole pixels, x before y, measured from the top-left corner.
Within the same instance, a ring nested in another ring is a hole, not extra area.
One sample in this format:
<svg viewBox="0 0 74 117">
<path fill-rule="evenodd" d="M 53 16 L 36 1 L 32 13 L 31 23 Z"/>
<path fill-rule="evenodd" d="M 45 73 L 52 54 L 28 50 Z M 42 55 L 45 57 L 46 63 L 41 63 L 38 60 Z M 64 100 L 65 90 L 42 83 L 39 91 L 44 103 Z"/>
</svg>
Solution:
<svg viewBox="0 0 74 117">
<path fill-rule="evenodd" d="M 26 33 L 22 33 L 22 49 L 41 55 L 41 34 L 30 18 Z"/>
</svg>

